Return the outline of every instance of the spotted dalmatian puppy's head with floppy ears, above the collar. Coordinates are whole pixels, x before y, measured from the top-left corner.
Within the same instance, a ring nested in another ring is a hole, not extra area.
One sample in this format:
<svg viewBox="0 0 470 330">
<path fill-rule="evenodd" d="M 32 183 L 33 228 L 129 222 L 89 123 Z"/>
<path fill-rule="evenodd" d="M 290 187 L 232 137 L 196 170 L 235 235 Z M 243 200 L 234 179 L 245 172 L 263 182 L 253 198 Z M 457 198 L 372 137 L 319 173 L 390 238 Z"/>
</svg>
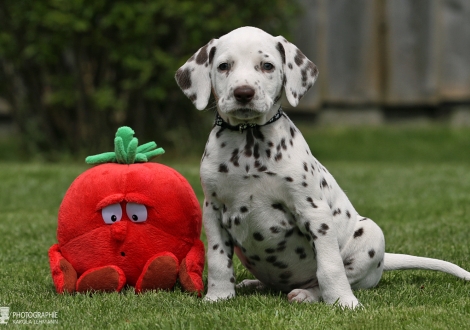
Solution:
<svg viewBox="0 0 470 330">
<path fill-rule="evenodd" d="M 224 120 L 262 125 L 278 110 L 283 88 L 295 107 L 317 76 L 315 64 L 282 36 L 242 27 L 200 48 L 176 81 L 197 109 L 212 90 Z"/>
</svg>

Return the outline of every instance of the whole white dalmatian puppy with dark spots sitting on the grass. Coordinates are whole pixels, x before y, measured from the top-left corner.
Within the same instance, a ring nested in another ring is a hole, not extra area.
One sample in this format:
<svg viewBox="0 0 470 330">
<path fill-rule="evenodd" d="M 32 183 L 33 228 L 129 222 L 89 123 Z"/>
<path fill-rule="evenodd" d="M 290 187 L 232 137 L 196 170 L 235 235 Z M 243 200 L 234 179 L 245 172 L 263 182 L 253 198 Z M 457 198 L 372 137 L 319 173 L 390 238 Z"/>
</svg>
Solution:
<svg viewBox="0 0 470 330">
<path fill-rule="evenodd" d="M 282 36 L 236 29 L 200 48 L 177 72 L 185 95 L 203 110 L 211 91 L 214 128 L 201 161 L 208 247 L 206 300 L 235 296 L 232 258 L 291 302 L 355 308 L 352 289 L 371 288 L 383 270 L 432 269 L 470 280 L 449 262 L 385 253 L 381 229 L 360 216 L 311 154 L 280 99 L 296 106 L 316 66 Z"/>
</svg>

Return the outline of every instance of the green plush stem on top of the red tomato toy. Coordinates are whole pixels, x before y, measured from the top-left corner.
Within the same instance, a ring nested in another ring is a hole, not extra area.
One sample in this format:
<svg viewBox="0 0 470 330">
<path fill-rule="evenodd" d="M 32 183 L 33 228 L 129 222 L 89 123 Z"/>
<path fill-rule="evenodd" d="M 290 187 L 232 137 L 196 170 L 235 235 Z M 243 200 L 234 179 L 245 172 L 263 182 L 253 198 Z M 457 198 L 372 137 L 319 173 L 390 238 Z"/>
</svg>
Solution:
<svg viewBox="0 0 470 330">
<path fill-rule="evenodd" d="M 87 164 L 119 163 L 134 164 L 145 163 L 151 158 L 161 155 L 165 152 L 162 148 L 157 148 L 155 142 L 148 142 L 141 146 L 134 137 L 134 130 L 130 127 L 120 127 L 116 132 L 114 139 L 114 152 L 105 152 L 102 154 L 88 156 L 85 161 Z"/>
</svg>

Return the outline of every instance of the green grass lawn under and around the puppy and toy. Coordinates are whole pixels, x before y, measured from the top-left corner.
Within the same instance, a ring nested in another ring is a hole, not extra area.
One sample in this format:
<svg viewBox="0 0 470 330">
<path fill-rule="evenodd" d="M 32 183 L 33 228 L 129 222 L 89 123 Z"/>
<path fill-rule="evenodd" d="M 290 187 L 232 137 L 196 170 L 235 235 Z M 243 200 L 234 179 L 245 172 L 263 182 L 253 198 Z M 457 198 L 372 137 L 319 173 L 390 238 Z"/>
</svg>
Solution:
<svg viewBox="0 0 470 330">
<path fill-rule="evenodd" d="M 470 269 L 470 130 L 300 128 L 358 212 L 383 228 L 387 251 L 445 259 Z M 158 160 L 186 176 L 202 201 L 198 159 L 161 156 Z M 289 304 L 284 294 L 248 289 L 216 304 L 179 288 L 141 295 L 132 288 L 119 294 L 58 295 L 47 250 L 56 242 L 61 199 L 87 168 L 70 163 L 0 163 L 0 307 L 10 307 L 10 312 L 56 311 L 55 327 L 71 329 L 465 329 L 470 325 L 470 283 L 431 271 L 385 273 L 376 288 L 355 292 L 365 306 L 356 311 L 324 303 Z M 238 260 L 235 270 L 237 281 L 251 277 Z M 13 318 L 2 326 L 14 327 Z"/>
</svg>

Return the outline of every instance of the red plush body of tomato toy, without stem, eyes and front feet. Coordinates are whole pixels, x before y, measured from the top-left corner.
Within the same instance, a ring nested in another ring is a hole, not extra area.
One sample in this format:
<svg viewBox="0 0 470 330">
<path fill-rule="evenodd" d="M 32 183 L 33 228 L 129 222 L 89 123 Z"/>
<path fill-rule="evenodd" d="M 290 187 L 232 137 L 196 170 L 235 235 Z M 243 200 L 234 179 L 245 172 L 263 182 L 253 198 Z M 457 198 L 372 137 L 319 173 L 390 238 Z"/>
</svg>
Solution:
<svg viewBox="0 0 470 330">
<path fill-rule="evenodd" d="M 106 224 L 101 210 L 115 203 L 121 205 L 122 219 Z M 127 203 L 145 205 L 147 220 L 132 222 L 126 214 Z M 78 277 L 93 268 L 116 266 L 124 272 L 127 284 L 135 286 L 145 264 L 162 252 L 174 254 L 180 264 L 191 251 L 189 259 L 199 265 L 191 266 L 194 276 L 202 283 L 201 226 L 194 191 L 174 169 L 157 163 L 93 167 L 75 179 L 59 208 L 59 243 L 49 253 L 56 290 L 63 291 L 63 274 L 52 266 L 57 258 L 70 262 Z"/>
</svg>

